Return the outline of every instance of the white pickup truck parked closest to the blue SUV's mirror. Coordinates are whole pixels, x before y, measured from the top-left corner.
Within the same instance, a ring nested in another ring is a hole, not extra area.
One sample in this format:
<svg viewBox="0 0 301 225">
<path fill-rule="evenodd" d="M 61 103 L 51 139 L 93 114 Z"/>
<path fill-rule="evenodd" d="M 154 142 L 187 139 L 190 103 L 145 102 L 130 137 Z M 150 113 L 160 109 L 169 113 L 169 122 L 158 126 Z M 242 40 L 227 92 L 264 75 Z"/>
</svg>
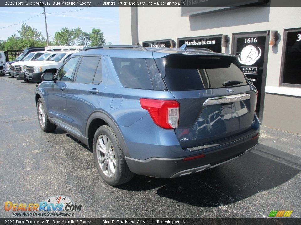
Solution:
<svg viewBox="0 0 301 225">
<path fill-rule="evenodd" d="M 61 65 L 73 53 L 77 51 L 64 51 L 57 53 L 54 57 L 48 58 L 44 61 L 30 61 L 25 66 L 25 76 L 29 81 L 40 83 L 42 81 L 41 75 L 45 72 L 55 73 Z"/>
</svg>

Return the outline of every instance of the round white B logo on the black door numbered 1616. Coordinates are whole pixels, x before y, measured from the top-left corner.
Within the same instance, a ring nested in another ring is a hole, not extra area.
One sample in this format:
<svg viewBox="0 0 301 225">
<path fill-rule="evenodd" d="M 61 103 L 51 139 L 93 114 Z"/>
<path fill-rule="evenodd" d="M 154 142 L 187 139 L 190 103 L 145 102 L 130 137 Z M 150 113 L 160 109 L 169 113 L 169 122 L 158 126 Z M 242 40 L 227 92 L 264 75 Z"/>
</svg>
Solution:
<svg viewBox="0 0 301 225">
<path fill-rule="evenodd" d="M 238 57 L 238 61 L 241 64 L 251 66 L 253 65 L 261 56 L 261 49 L 253 45 L 247 45 L 244 47 Z"/>
</svg>

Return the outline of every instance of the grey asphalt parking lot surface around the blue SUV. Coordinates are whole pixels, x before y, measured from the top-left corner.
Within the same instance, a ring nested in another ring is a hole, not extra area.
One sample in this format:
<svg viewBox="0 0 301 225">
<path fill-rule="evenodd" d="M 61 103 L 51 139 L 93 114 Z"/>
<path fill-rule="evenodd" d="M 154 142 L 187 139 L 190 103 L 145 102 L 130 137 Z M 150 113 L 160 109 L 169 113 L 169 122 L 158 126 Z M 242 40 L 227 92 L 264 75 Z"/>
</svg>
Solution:
<svg viewBox="0 0 301 225">
<path fill-rule="evenodd" d="M 42 132 L 36 86 L 0 77 L 1 218 L 14 218 L 6 201 L 53 196 L 82 205 L 66 218 L 268 218 L 271 210 L 301 218 L 300 135 L 261 127 L 260 144 L 229 163 L 182 178 L 136 175 L 111 187 L 83 143 L 59 128 Z"/>
</svg>

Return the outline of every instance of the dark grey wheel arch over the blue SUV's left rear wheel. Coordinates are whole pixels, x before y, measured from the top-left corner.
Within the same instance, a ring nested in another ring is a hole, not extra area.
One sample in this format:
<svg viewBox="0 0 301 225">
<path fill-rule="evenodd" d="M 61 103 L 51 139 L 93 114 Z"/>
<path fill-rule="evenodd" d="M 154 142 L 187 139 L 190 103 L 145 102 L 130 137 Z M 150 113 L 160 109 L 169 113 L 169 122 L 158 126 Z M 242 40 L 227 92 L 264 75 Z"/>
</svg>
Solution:
<svg viewBox="0 0 301 225">
<path fill-rule="evenodd" d="M 124 137 L 123 137 L 119 127 L 117 126 L 116 122 L 108 115 L 108 113 L 105 113 L 100 110 L 91 113 L 91 115 L 87 119 L 85 136 L 88 138 L 89 148 L 93 149 L 92 144 L 93 144 L 93 138 L 94 138 L 95 131 L 100 126 L 103 126 L 103 125 L 108 125 L 109 127 L 111 127 L 114 130 L 114 132 L 116 133 L 116 135 L 119 139 L 119 142 L 122 146 L 124 155 L 127 157 L 130 157 L 128 148 L 124 141 Z"/>
</svg>

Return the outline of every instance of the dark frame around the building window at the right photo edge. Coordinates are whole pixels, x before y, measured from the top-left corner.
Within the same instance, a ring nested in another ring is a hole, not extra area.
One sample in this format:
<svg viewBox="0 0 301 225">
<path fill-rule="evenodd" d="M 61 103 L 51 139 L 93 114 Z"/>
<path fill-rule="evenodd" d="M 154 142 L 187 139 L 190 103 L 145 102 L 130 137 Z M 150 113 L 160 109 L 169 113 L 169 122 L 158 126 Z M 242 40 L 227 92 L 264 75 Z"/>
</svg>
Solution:
<svg viewBox="0 0 301 225">
<path fill-rule="evenodd" d="M 282 46 L 281 67 L 280 67 L 280 80 L 279 80 L 279 86 L 280 87 L 301 88 L 301 84 L 283 83 L 284 68 L 285 68 L 285 63 L 286 63 L 286 50 L 287 50 L 288 33 L 289 32 L 298 32 L 298 31 L 301 32 L 301 27 L 284 29 L 284 32 L 283 32 L 283 46 Z"/>
</svg>

